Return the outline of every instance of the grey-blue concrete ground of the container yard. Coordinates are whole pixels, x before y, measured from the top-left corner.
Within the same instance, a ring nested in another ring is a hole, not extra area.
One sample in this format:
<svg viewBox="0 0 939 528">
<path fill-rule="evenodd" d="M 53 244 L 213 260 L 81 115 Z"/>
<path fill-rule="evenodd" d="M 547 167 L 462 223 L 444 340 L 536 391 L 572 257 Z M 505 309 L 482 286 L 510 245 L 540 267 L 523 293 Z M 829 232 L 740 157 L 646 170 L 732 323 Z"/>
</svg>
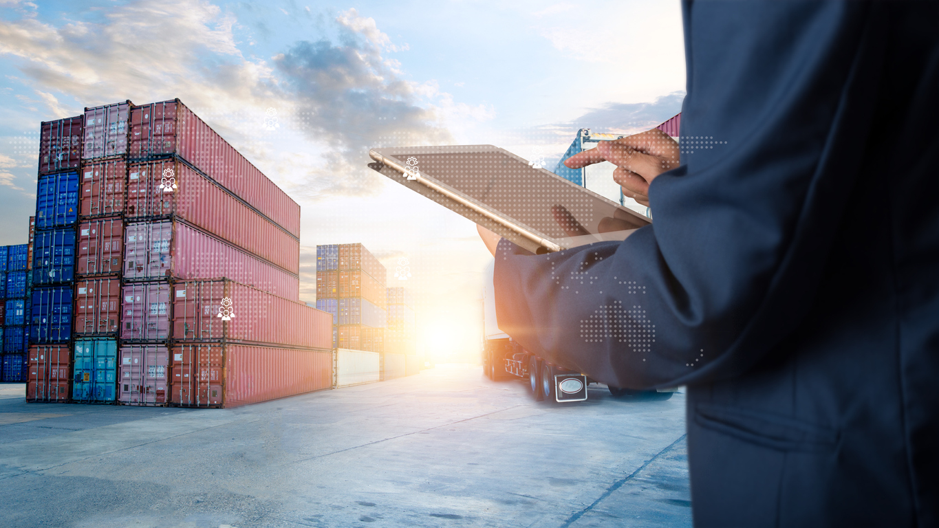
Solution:
<svg viewBox="0 0 939 528">
<path fill-rule="evenodd" d="M 534 402 L 439 365 L 225 410 L 0 385 L 3 526 L 691 525 L 685 395 Z M 593 388 L 597 387 L 597 388 Z"/>
</svg>

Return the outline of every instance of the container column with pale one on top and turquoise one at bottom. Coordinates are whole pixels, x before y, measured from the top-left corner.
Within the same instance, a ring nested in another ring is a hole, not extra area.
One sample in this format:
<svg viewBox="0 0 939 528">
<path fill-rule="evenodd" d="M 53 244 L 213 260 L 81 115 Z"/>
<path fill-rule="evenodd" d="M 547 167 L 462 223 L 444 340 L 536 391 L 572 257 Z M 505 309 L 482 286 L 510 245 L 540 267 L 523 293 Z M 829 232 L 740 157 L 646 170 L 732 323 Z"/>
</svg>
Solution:
<svg viewBox="0 0 939 528">
<path fill-rule="evenodd" d="M 130 116 L 123 101 L 85 108 L 71 399 L 112 403 L 121 313 Z"/>
</svg>

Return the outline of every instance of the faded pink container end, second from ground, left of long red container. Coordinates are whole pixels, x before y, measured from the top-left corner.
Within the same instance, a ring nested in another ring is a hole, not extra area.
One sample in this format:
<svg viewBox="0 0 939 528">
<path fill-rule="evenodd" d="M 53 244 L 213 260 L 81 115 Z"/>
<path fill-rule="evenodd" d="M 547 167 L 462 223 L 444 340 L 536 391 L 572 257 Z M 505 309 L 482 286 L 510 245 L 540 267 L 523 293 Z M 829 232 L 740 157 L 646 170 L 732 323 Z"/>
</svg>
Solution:
<svg viewBox="0 0 939 528">
<path fill-rule="evenodd" d="M 137 282 L 121 288 L 120 338 L 156 341 L 170 337 L 170 284 Z"/>
</svg>

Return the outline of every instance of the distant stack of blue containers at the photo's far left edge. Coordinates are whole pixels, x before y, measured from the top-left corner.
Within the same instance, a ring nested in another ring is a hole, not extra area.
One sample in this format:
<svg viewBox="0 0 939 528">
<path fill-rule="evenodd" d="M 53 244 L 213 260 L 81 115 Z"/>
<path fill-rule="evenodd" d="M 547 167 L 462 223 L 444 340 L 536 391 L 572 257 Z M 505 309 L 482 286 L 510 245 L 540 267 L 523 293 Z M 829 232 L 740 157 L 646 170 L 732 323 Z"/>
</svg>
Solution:
<svg viewBox="0 0 939 528">
<path fill-rule="evenodd" d="M 29 339 L 28 244 L 0 246 L 0 381 L 23 382 Z"/>
</svg>

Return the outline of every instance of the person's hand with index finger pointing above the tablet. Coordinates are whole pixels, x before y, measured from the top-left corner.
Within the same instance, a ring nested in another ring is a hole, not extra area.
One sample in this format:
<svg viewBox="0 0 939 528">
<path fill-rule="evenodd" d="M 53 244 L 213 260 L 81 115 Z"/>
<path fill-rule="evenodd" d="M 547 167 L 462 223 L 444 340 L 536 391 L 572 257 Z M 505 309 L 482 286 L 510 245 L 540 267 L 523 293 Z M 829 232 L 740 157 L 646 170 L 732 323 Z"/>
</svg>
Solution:
<svg viewBox="0 0 939 528">
<path fill-rule="evenodd" d="M 570 169 L 609 161 L 616 165 L 613 180 L 623 188 L 623 196 L 649 206 L 649 184 L 655 176 L 678 167 L 679 146 L 668 134 L 653 128 L 611 142 L 600 142 L 564 160 Z"/>
</svg>

